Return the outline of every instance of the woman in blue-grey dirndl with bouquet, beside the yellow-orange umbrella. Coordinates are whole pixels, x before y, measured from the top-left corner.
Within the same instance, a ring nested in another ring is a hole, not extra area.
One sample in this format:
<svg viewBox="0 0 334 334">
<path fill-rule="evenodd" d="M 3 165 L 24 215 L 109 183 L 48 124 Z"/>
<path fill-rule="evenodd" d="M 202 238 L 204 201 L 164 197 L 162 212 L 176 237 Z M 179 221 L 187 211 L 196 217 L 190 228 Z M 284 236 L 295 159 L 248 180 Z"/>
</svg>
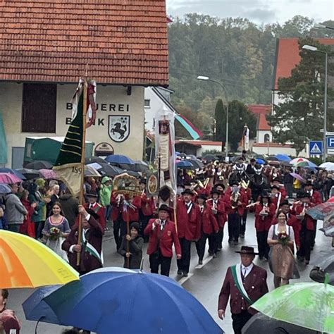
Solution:
<svg viewBox="0 0 334 334">
<path fill-rule="evenodd" d="M 70 234 L 70 225 L 68 220 L 61 215 L 60 203 L 55 202 L 51 209 L 52 215 L 45 221 L 42 234 L 47 237 L 46 245 L 61 256 L 62 259 L 68 261 L 67 254 L 61 249 L 61 245 Z"/>
</svg>

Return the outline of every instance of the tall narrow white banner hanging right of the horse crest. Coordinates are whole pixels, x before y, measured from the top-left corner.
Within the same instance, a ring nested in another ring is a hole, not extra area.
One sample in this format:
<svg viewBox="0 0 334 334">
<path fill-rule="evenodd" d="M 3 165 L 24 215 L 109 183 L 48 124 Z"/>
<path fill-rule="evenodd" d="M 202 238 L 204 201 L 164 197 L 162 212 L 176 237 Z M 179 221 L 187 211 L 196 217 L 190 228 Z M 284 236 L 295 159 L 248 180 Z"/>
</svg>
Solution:
<svg viewBox="0 0 334 334">
<path fill-rule="evenodd" d="M 159 189 L 167 186 L 176 195 L 175 168 L 175 113 L 163 106 L 155 117 L 156 157 L 160 159 Z"/>
</svg>

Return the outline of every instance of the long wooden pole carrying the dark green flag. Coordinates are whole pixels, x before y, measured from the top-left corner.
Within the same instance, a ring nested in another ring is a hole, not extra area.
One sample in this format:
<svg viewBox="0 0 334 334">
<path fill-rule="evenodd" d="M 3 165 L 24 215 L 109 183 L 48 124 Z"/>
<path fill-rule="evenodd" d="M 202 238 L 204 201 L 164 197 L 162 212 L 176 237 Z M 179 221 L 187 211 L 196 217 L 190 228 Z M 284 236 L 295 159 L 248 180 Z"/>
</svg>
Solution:
<svg viewBox="0 0 334 334">
<path fill-rule="evenodd" d="M 81 148 L 81 179 L 80 179 L 80 194 L 79 204 L 84 204 L 84 182 L 85 182 L 85 151 L 86 151 L 86 125 L 87 125 L 87 94 L 88 94 L 88 64 L 85 70 L 85 80 L 83 89 L 83 106 L 82 106 L 82 148 Z M 81 245 L 82 239 L 82 215 L 79 216 L 78 226 L 78 243 Z M 80 266 L 80 254 L 77 253 L 77 266 Z"/>
</svg>

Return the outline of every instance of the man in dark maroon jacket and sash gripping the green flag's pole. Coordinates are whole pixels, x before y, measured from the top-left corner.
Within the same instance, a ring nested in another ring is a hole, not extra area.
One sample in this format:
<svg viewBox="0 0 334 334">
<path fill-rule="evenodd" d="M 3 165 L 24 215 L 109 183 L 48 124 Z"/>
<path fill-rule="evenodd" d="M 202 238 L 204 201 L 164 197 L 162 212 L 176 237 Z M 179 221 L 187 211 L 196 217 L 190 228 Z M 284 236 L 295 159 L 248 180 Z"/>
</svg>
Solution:
<svg viewBox="0 0 334 334">
<path fill-rule="evenodd" d="M 82 215 L 82 241 L 78 240 L 79 227 L 74 225 L 61 248 L 67 252 L 70 265 L 83 275 L 103 266 L 101 252 L 104 230 L 92 209 L 85 209 L 80 205 L 79 214 Z M 80 253 L 79 266 L 77 253 Z"/>
</svg>

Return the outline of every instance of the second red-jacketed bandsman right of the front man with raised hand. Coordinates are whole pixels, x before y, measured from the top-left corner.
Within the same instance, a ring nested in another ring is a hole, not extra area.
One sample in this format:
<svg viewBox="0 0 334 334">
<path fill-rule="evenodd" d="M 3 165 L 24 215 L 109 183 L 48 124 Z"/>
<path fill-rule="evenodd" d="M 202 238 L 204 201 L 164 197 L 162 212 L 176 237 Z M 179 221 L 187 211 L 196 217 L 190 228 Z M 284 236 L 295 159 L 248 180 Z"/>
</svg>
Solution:
<svg viewBox="0 0 334 334">
<path fill-rule="evenodd" d="M 211 209 L 211 206 L 206 204 L 206 194 L 199 194 L 197 203 L 201 215 L 201 237 L 196 242 L 196 249 L 198 254 L 198 264 L 203 264 L 203 257 L 205 252 L 206 239 L 209 239 L 209 254 L 216 257 L 216 236 L 219 231 L 219 226 Z"/>
</svg>

